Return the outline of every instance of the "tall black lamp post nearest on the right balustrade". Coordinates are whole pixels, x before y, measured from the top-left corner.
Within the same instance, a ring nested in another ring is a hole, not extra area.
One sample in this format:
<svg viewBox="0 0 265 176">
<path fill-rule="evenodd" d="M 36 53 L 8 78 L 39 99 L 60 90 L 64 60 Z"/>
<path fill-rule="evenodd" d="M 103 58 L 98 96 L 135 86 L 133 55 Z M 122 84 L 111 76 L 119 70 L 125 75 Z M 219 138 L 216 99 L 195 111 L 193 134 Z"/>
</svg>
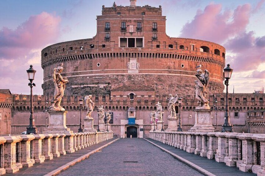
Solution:
<svg viewBox="0 0 265 176">
<path fill-rule="evenodd" d="M 228 80 L 231 78 L 233 69 L 230 68 L 230 64 L 227 64 L 227 67 L 223 69 L 223 77 L 225 78 L 224 84 L 226 85 L 226 106 L 225 106 L 225 116 L 224 124 L 222 127 L 222 132 L 233 132 L 233 125 L 230 124 L 230 116 L 228 112 Z"/>
</svg>

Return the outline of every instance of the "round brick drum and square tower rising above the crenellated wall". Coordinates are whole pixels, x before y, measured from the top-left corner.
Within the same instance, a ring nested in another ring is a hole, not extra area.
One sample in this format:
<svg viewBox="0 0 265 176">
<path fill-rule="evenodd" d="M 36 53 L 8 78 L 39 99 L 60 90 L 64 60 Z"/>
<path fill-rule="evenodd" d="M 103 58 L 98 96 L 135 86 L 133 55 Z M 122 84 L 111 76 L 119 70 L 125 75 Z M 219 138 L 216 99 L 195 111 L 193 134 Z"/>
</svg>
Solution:
<svg viewBox="0 0 265 176">
<path fill-rule="evenodd" d="M 102 6 L 95 37 L 43 49 L 44 95 L 53 94 L 52 72 L 60 63 L 69 80 L 68 95 L 106 95 L 120 85 L 145 85 L 159 95 L 193 95 L 199 64 L 210 73 L 209 94 L 224 89 L 225 48 L 167 36 L 161 6 Z"/>
</svg>

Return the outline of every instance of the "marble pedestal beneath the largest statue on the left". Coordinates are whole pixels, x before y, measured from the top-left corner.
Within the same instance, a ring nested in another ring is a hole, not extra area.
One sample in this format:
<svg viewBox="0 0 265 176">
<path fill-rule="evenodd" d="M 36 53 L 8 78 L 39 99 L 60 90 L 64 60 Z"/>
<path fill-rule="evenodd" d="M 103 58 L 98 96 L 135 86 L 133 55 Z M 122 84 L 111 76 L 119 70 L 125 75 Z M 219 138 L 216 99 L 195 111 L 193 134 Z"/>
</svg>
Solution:
<svg viewBox="0 0 265 176">
<path fill-rule="evenodd" d="M 42 133 L 73 133 L 70 128 L 66 127 L 67 111 L 48 111 L 49 126 Z"/>
</svg>

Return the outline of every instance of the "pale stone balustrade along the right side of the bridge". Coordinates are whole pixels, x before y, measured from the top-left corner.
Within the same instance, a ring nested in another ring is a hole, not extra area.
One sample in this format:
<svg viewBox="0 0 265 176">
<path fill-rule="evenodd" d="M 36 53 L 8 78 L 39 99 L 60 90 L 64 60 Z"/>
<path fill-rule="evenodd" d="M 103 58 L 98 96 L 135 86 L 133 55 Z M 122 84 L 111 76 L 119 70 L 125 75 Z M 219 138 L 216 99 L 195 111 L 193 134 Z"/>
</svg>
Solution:
<svg viewBox="0 0 265 176">
<path fill-rule="evenodd" d="M 265 173 L 264 134 L 150 131 L 150 138 L 243 172 Z"/>
</svg>

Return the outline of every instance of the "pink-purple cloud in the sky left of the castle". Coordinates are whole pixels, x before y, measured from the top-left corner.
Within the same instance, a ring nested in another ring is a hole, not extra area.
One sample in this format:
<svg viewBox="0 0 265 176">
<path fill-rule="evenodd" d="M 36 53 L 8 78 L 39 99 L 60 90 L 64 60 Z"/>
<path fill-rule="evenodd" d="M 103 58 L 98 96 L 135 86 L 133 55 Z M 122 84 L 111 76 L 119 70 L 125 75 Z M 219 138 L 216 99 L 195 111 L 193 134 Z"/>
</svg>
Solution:
<svg viewBox="0 0 265 176">
<path fill-rule="evenodd" d="M 16 30 L 3 27 L 0 30 L 0 58 L 11 59 L 26 55 L 57 39 L 61 18 L 47 12 L 31 16 Z"/>
</svg>

